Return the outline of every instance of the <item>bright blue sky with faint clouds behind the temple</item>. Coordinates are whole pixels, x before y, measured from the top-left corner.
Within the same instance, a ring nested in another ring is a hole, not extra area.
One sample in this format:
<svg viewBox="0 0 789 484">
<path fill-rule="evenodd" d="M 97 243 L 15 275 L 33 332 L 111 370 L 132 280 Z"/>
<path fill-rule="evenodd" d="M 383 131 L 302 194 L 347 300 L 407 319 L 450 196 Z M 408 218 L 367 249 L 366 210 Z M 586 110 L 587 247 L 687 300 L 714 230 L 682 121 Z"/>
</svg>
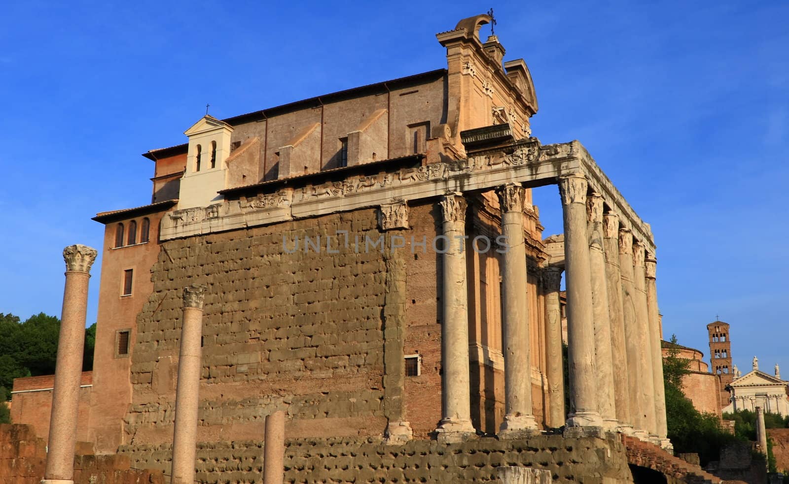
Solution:
<svg viewBox="0 0 789 484">
<path fill-rule="evenodd" d="M 543 143 L 578 139 L 658 245 L 666 337 L 789 376 L 786 2 L 12 2 L 0 28 L 0 312 L 59 315 L 61 251 L 150 202 L 151 148 L 230 117 L 443 68 L 434 34 L 495 8 Z M 488 27 L 482 28 L 487 35 Z M 535 191 L 546 235 L 555 188 Z M 95 321 L 100 261 L 92 271 Z"/>
</svg>

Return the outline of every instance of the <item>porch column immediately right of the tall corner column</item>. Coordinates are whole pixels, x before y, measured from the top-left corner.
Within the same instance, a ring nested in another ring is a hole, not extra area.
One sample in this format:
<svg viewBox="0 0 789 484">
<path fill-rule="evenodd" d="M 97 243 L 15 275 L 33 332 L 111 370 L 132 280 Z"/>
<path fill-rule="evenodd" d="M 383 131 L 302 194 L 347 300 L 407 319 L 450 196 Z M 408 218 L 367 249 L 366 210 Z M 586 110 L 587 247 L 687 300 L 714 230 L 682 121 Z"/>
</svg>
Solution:
<svg viewBox="0 0 789 484">
<path fill-rule="evenodd" d="M 595 369 L 597 370 L 597 403 L 603 417 L 603 428 L 615 431 L 614 366 L 611 359 L 611 317 L 608 313 L 608 285 L 603 247 L 603 197 L 599 193 L 587 199 L 589 229 L 589 266 L 592 271 L 592 310 L 594 318 Z"/>
</svg>

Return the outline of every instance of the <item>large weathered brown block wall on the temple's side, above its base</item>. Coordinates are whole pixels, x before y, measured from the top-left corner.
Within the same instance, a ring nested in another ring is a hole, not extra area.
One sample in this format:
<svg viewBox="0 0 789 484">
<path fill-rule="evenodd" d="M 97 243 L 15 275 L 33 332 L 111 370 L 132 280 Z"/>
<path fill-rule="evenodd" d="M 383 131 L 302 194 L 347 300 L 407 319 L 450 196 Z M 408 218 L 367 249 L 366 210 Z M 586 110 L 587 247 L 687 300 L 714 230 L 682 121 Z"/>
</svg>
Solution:
<svg viewBox="0 0 789 484">
<path fill-rule="evenodd" d="M 283 236 L 299 250 L 283 251 Z M 305 253 L 305 236 L 321 250 Z M 386 262 L 353 251 L 355 236 L 378 239 L 376 210 L 164 243 L 137 317 L 126 442 L 172 438 L 181 291 L 193 283 L 208 285 L 199 441 L 260 438 L 285 407 L 293 437 L 382 434 Z"/>
</svg>

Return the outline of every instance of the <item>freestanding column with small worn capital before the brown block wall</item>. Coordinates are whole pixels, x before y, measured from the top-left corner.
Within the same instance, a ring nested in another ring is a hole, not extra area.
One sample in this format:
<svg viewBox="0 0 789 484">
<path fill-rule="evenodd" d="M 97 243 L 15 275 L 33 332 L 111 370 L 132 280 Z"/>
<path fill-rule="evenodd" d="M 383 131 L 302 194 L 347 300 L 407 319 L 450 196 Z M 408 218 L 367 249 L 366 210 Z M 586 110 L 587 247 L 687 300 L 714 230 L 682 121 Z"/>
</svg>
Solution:
<svg viewBox="0 0 789 484">
<path fill-rule="evenodd" d="M 197 407 L 200 390 L 200 338 L 203 335 L 203 298 L 206 286 L 184 288 L 178 387 L 175 390 L 172 484 L 193 484 L 197 445 Z"/>
</svg>

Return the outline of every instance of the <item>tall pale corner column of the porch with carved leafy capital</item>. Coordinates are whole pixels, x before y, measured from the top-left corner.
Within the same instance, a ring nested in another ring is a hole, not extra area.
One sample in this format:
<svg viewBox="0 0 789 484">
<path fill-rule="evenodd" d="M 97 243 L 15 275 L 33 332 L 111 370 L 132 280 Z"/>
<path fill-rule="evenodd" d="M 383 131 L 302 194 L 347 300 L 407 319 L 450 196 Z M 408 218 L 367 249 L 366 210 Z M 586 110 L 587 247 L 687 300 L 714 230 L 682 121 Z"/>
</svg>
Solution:
<svg viewBox="0 0 789 484">
<path fill-rule="evenodd" d="M 586 178 L 578 173 L 559 178 L 564 222 L 564 263 L 567 285 L 567 352 L 570 415 L 567 426 L 602 427 L 597 404 L 594 360 L 589 240 L 586 229 Z"/>
</svg>

